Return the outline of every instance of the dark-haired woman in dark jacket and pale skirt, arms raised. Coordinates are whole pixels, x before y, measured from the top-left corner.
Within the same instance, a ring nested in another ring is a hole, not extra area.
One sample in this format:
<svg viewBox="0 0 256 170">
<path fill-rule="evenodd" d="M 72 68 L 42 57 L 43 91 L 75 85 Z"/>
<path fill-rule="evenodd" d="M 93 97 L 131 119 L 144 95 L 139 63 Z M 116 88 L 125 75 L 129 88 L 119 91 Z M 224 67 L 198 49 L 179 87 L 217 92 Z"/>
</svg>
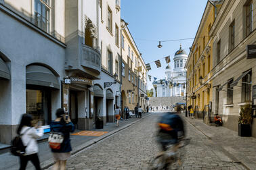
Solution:
<svg viewBox="0 0 256 170">
<path fill-rule="evenodd" d="M 68 115 L 65 115 L 64 109 L 60 108 L 56 111 L 55 121 L 51 121 L 51 132 L 61 132 L 64 136 L 64 140 L 60 146 L 60 149 L 51 149 L 54 155 L 55 164 L 53 169 L 66 169 L 66 161 L 70 157 L 70 151 L 72 150 L 70 145 L 70 132 L 74 132 L 74 124 L 70 121 Z"/>
</svg>

